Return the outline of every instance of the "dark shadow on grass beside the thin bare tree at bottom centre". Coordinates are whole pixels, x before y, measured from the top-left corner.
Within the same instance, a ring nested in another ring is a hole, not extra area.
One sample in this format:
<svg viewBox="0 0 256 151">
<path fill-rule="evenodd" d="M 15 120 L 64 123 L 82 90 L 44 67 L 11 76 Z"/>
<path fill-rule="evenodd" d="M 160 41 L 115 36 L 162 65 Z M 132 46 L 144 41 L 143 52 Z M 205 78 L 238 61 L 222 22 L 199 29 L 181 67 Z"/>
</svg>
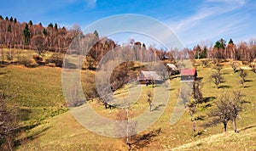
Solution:
<svg viewBox="0 0 256 151">
<path fill-rule="evenodd" d="M 154 140 L 154 137 L 158 137 L 161 129 L 157 129 L 154 131 L 149 131 L 147 134 L 143 134 L 142 136 L 136 136 L 132 141 L 132 150 L 142 149 L 148 146 Z"/>
</svg>

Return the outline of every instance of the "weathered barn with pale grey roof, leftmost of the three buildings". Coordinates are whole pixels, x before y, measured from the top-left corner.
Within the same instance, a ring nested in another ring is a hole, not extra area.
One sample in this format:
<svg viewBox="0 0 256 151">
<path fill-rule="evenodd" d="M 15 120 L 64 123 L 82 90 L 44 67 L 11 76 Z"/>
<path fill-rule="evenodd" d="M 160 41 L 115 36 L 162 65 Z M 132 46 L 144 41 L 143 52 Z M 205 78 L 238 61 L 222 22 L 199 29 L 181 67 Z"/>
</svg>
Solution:
<svg viewBox="0 0 256 151">
<path fill-rule="evenodd" d="M 163 79 L 155 71 L 140 71 L 137 81 L 141 84 L 162 83 Z"/>
</svg>

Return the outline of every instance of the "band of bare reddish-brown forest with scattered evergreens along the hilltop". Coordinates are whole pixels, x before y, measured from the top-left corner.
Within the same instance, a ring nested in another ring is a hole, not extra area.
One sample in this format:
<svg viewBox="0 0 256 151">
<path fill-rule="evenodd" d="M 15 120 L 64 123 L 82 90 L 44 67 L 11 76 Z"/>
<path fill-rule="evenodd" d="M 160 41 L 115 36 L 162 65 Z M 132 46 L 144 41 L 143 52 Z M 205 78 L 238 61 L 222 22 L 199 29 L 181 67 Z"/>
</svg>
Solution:
<svg viewBox="0 0 256 151">
<path fill-rule="evenodd" d="M 41 23 L 33 24 L 32 20 L 28 23 L 20 23 L 12 16 L 0 15 L 0 45 L 10 48 L 22 48 L 41 51 L 51 51 L 55 53 L 66 53 L 67 48 L 73 41 L 73 38 L 79 33 L 82 33 L 79 25 L 73 25 L 70 29 L 65 26 L 60 27 L 56 23 L 53 25 L 49 23 L 44 27 Z M 82 33 L 92 36 L 96 39 L 96 44 L 90 53 L 90 57 L 94 61 L 99 61 L 102 56 L 109 50 L 120 47 L 108 37 L 99 37 L 99 33 L 94 31 L 93 34 Z M 137 48 L 137 51 L 148 51 L 154 53 L 159 59 L 182 60 L 182 59 L 233 59 L 247 61 L 251 63 L 256 56 L 256 40 L 252 39 L 249 42 L 234 43 L 230 38 L 229 42 L 220 38 L 213 44 L 206 44 L 201 42 L 194 48 L 183 48 L 183 50 L 171 49 L 164 50 L 164 48 L 154 48 L 153 46 L 146 47 L 143 42 L 136 42 L 130 39 L 126 45 Z"/>
</svg>

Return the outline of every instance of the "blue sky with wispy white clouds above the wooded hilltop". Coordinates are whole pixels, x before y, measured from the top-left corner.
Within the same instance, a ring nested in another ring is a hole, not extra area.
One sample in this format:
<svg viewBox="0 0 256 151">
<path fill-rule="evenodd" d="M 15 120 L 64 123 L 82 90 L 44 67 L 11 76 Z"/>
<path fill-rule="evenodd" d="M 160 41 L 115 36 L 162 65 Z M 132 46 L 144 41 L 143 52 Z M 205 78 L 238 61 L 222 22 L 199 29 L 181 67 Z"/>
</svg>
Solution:
<svg viewBox="0 0 256 151">
<path fill-rule="evenodd" d="M 254 0 L 2 0 L 0 14 L 44 26 L 79 25 L 82 30 L 113 15 L 142 14 L 167 25 L 188 48 L 214 44 L 220 38 L 227 42 L 230 38 L 234 42 L 256 38 Z M 150 42 L 144 36 L 130 36 Z M 112 37 L 119 43 L 128 39 Z"/>
</svg>

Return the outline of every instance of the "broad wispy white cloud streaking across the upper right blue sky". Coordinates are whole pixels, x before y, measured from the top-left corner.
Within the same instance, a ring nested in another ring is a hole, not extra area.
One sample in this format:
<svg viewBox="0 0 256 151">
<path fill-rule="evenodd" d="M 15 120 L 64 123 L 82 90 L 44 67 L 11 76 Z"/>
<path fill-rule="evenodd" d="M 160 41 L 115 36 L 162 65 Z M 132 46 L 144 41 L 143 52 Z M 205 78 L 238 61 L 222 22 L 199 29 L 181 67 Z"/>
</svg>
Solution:
<svg viewBox="0 0 256 151">
<path fill-rule="evenodd" d="M 171 27 L 186 45 L 202 40 L 214 39 L 222 34 L 239 30 L 243 19 L 231 14 L 246 4 L 244 0 L 206 0 L 195 14 L 188 18 L 172 22 Z M 240 14 L 238 14 L 240 15 Z"/>
</svg>

